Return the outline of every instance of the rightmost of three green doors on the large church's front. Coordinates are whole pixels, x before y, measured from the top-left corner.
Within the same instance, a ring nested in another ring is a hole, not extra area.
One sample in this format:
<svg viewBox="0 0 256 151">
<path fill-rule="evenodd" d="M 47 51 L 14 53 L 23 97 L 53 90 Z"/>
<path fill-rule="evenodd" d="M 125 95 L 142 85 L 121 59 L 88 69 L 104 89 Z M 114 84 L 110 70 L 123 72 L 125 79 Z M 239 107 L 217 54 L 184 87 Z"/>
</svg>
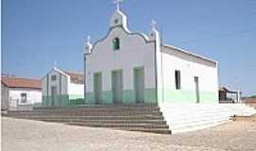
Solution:
<svg viewBox="0 0 256 151">
<path fill-rule="evenodd" d="M 134 69 L 136 102 L 144 103 L 144 68 Z"/>
</svg>

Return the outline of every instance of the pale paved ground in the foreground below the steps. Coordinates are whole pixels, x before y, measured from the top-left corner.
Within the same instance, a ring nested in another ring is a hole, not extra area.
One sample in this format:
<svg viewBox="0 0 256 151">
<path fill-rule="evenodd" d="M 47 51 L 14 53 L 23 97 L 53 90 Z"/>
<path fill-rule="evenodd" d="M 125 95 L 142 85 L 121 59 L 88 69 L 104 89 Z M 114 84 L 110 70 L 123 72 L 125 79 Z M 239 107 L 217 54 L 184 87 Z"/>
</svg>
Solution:
<svg viewBox="0 0 256 151">
<path fill-rule="evenodd" d="M 3 151 L 253 151 L 256 116 L 176 135 L 2 118 Z"/>
</svg>

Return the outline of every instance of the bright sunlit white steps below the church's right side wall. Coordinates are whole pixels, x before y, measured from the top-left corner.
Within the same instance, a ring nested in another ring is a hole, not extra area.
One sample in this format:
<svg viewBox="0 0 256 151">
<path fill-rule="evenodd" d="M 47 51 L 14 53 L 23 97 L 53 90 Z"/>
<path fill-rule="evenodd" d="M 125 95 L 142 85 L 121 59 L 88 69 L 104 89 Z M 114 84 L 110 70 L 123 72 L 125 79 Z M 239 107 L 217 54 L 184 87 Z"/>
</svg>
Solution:
<svg viewBox="0 0 256 151">
<path fill-rule="evenodd" d="M 162 104 L 160 109 L 172 133 L 218 126 L 231 116 L 250 116 L 256 110 L 245 104 Z"/>
</svg>

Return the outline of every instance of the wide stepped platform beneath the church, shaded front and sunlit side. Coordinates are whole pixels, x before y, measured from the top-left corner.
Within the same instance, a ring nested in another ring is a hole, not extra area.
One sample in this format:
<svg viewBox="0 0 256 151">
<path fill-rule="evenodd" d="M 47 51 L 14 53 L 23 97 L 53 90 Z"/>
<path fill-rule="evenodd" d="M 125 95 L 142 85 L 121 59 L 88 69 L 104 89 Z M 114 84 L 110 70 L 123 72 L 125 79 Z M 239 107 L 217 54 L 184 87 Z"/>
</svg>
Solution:
<svg viewBox="0 0 256 151">
<path fill-rule="evenodd" d="M 159 106 L 159 107 L 158 107 Z M 11 110 L 3 115 L 123 130 L 171 134 L 218 126 L 232 116 L 250 116 L 256 110 L 246 104 L 159 104 L 40 107 Z"/>
</svg>

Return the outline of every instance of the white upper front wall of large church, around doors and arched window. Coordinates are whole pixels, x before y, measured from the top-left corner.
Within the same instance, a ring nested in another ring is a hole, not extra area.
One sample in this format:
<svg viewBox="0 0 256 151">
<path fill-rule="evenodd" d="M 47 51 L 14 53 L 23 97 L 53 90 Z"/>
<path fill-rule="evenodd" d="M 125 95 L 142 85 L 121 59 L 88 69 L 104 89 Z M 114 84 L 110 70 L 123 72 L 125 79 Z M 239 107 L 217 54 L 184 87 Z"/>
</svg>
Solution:
<svg viewBox="0 0 256 151">
<path fill-rule="evenodd" d="M 134 68 L 144 66 L 145 88 L 155 88 L 155 42 L 145 42 L 139 34 L 128 34 L 117 26 L 101 42 L 97 42 L 92 54 L 86 56 L 86 92 L 93 92 L 93 74 L 101 72 L 102 91 L 111 91 L 111 71 L 122 69 L 123 89 L 134 89 Z M 113 50 L 113 39 L 119 38 L 120 49 Z"/>
</svg>

